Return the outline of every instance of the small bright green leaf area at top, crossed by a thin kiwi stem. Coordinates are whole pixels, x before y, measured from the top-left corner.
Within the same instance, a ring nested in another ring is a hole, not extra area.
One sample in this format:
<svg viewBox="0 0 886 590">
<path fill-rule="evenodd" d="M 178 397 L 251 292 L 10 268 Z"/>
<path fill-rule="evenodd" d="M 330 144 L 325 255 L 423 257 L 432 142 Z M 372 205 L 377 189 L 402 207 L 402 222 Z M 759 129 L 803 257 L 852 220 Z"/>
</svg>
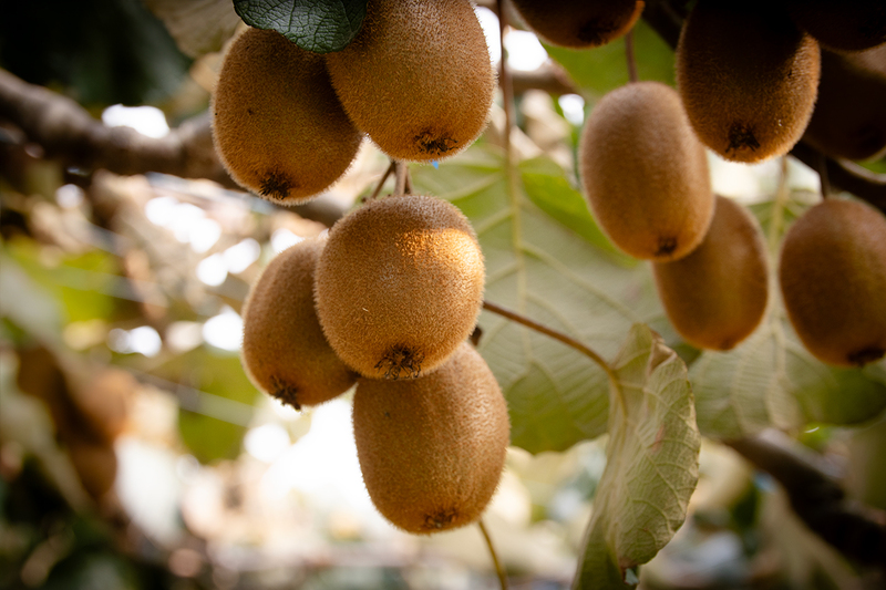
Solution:
<svg viewBox="0 0 886 590">
<path fill-rule="evenodd" d="M 586 50 L 547 44 L 545 49 L 588 99 L 597 100 L 628 83 L 624 39 Z M 674 85 L 673 50 L 642 20 L 633 27 L 633 49 L 640 80 Z"/>
</svg>

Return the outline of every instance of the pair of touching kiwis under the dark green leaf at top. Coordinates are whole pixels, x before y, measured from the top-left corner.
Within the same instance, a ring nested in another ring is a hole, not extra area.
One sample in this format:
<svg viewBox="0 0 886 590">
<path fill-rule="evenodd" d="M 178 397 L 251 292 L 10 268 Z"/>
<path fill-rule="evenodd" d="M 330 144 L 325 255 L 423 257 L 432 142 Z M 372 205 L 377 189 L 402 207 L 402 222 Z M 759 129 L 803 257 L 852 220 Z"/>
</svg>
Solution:
<svg viewBox="0 0 886 590">
<path fill-rule="evenodd" d="M 300 203 L 344 174 L 363 134 L 396 159 L 464 149 L 494 90 L 468 0 L 371 0 L 339 52 L 305 51 L 271 30 L 240 34 L 219 72 L 213 137 L 239 185 Z"/>
</svg>

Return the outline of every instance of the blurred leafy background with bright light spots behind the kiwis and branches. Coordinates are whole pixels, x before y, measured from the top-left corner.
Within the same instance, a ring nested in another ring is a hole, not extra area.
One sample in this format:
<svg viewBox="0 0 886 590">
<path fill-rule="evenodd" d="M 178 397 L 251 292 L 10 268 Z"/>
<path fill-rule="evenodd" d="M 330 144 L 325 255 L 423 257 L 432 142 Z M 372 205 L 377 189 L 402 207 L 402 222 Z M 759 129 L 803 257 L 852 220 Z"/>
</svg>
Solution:
<svg viewBox="0 0 886 590">
<path fill-rule="evenodd" d="M 495 56 L 495 17 L 480 10 Z M 6 2 L 0 66 L 109 125 L 114 105 L 153 105 L 176 127 L 207 108 L 231 13 L 210 0 Z M 673 84 L 669 45 L 643 22 L 635 39 L 640 77 Z M 765 325 L 790 333 L 777 303 L 731 353 L 682 343 L 648 267 L 606 240 L 575 173 L 584 114 L 627 81 L 624 44 L 577 52 L 516 30 L 505 45 L 515 72 L 562 68 L 575 85 L 518 93 L 518 194 L 504 187 L 501 99 L 474 147 L 413 166 L 413 183 L 472 219 L 491 300 L 607 358 L 642 321 L 690 365 L 710 438 L 690 518 L 642 586 L 875 588 L 882 575 L 811 534 L 771 477 L 717 441 L 779 427 L 852 498 L 886 509 L 886 364 L 834 371 L 794 346 L 773 369 L 784 344 L 766 343 Z M 372 509 L 347 395 L 295 412 L 243 372 L 249 284 L 324 225 L 208 180 L 65 167 L 20 136 L 0 118 L 0 587 L 497 587 L 475 527 L 412 537 Z M 323 198 L 346 210 L 388 164 L 364 145 Z M 711 165 L 714 188 L 751 207 L 774 259 L 781 232 L 817 199 L 817 176 L 795 161 Z M 507 279 L 517 262 L 525 300 Z M 481 327 L 515 444 L 485 519 L 514 588 L 567 588 L 605 464 L 605 377 L 537 334 L 533 358 L 519 358 L 508 343 L 522 329 L 486 312 Z"/>
</svg>

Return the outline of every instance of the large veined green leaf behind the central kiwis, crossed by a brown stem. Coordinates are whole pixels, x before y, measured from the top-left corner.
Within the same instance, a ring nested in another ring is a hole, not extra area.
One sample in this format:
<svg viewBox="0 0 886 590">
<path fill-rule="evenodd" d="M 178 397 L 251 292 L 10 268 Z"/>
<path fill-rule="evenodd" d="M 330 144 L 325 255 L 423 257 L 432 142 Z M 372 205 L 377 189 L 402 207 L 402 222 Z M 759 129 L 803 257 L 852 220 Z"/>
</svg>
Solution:
<svg viewBox="0 0 886 590">
<path fill-rule="evenodd" d="M 599 244 L 587 205 L 562 168 L 525 162 L 513 187 L 504 170 L 498 149 L 476 145 L 440 169 L 412 167 L 416 192 L 449 199 L 471 219 L 486 260 L 487 300 L 604 358 L 618 352 L 636 322 L 668 329 L 648 266 L 625 266 L 611 246 Z M 556 218 L 546 210 L 556 210 Z M 486 311 L 480 325 L 480 352 L 507 398 L 512 444 L 532 453 L 562 451 L 606 432 L 607 376 L 590 359 Z"/>
</svg>

